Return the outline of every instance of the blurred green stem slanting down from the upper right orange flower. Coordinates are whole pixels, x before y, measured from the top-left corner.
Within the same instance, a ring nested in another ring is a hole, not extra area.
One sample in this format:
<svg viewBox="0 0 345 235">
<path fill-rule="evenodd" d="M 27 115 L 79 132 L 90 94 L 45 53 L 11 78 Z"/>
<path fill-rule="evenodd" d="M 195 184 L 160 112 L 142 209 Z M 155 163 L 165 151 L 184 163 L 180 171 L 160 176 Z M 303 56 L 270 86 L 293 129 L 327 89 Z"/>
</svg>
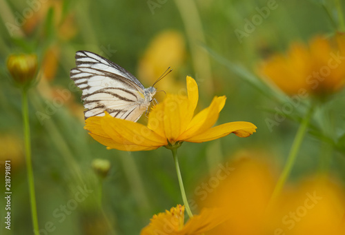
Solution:
<svg viewBox="0 0 345 235">
<path fill-rule="evenodd" d="M 306 134 L 307 127 L 309 125 L 309 122 L 311 121 L 312 114 L 313 114 L 313 106 L 311 106 L 310 110 L 308 110 L 301 125 L 299 125 L 299 129 L 297 131 L 295 139 L 293 140 L 293 145 L 290 149 L 290 153 L 288 154 L 288 159 L 284 166 L 284 170 L 282 174 L 280 174 L 277 185 L 275 185 L 275 189 L 273 190 L 271 201 L 275 201 L 275 198 L 277 198 L 277 196 L 282 191 L 282 188 L 284 187 L 284 184 L 286 180 L 288 179 L 288 176 L 290 175 L 293 165 L 295 164 L 299 147 L 301 147 L 302 141 L 304 139 L 304 135 Z"/>
</svg>

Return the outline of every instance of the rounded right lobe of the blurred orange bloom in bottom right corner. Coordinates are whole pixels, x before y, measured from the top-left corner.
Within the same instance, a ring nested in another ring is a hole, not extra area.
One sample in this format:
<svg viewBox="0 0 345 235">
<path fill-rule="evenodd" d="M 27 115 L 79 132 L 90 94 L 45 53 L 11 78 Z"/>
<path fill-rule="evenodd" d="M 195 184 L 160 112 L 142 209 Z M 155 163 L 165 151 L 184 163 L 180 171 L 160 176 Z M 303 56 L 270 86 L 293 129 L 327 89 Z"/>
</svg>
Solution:
<svg viewBox="0 0 345 235">
<path fill-rule="evenodd" d="M 344 196 L 339 185 L 317 176 L 286 190 L 268 215 L 270 234 L 345 234 Z"/>
</svg>

